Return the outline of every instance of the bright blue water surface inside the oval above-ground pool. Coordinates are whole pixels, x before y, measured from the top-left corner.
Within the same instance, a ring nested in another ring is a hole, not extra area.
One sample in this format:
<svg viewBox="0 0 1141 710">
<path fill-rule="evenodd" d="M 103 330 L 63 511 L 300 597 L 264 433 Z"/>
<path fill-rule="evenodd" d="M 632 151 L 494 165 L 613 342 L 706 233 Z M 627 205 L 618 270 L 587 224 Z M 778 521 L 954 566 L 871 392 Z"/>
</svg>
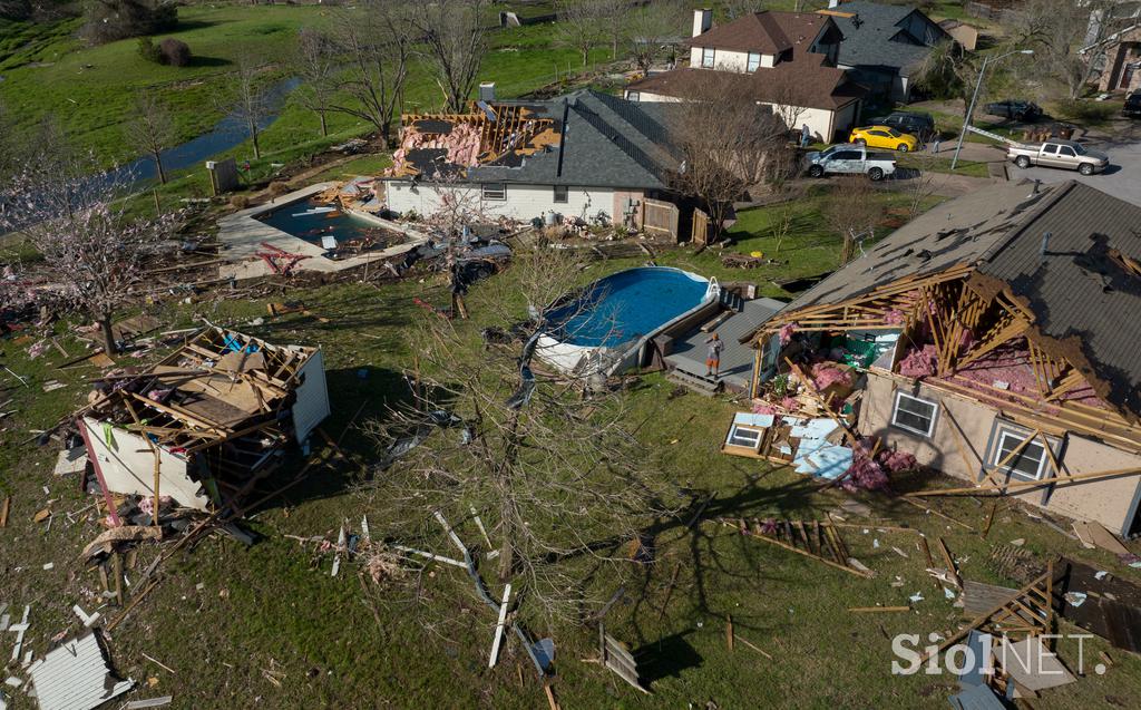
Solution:
<svg viewBox="0 0 1141 710">
<path fill-rule="evenodd" d="M 549 314 L 552 336 L 584 347 L 641 338 L 701 305 L 709 282 L 677 268 L 631 268 L 596 281 Z"/>
</svg>

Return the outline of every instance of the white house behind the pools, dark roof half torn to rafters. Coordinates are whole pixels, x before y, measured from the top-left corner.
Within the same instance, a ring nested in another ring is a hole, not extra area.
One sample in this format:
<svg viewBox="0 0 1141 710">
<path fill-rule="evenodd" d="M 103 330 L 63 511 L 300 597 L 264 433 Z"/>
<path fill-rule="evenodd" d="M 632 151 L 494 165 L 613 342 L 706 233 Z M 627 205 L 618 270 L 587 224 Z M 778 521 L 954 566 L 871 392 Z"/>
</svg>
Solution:
<svg viewBox="0 0 1141 710">
<path fill-rule="evenodd" d="M 402 116 L 387 208 L 434 215 L 452 200 L 491 218 L 560 215 L 640 229 L 647 200 L 670 194 L 670 107 L 597 91 L 502 102 L 494 86 L 469 113 Z"/>
</svg>

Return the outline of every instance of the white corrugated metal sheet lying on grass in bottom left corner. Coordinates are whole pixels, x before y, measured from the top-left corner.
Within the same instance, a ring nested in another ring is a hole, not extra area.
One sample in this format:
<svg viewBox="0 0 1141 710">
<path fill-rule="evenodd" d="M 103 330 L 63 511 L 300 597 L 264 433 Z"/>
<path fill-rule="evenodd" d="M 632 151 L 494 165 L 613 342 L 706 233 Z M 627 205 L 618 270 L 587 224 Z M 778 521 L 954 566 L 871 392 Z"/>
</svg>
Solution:
<svg viewBox="0 0 1141 710">
<path fill-rule="evenodd" d="M 27 669 L 40 710 L 91 710 L 135 687 L 115 681 L 96 635 L 70 640 Z"/>
</svg>

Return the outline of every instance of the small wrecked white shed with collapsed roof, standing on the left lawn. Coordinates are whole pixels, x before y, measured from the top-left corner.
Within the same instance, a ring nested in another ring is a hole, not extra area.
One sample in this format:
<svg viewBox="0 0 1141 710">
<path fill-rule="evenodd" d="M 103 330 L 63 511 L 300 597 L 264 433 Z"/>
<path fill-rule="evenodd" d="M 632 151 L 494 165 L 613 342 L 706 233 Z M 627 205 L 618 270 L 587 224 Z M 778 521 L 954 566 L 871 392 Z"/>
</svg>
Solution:
<svg viewBox="0 0 1141 710">
<path fill-rule="evenodd" d="M 196 510 L 248 493 L 330 413 L 319 348 L 208 328 L 105 382 L 79 421 L 99 487 Z M 114 513 L 112 513 L 114 517 Z"/>
</svg>

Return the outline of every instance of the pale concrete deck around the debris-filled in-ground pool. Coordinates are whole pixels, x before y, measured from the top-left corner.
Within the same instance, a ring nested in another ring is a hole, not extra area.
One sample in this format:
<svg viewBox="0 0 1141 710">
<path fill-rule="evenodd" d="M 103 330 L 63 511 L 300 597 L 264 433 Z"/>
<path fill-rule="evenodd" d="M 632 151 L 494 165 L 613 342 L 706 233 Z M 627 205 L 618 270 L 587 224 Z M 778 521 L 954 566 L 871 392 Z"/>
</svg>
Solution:
<svg viewBox="0 0 1141 710">
<path fill-rule="evenodd" d="M 316 244 L 311 244 L 300 237 L 286 234 L 276 227 L 272 227 L 258 219 L 266 212 L 281 209 L 292 202 L 306 200 L 313 195 L 324 192 L 337 183 L 317 183 L 301 189 L 297 189 L 281 197 L 276 197 L 266 204 L 251 207 L 233 215 L 227 215 L 218 220 L 218 241 L 222 244 L 222 256 L 227 263 L 218 269 L 219 279 L 256 279 L 273 274 L 273 269 L 258 256 L 258 252 L 266 251 L 262 242 L 288 251 L 290 253 L 306 255 L 310 258 L 302 259 L 294 269 L 307 272 L 337 273 L 365 264 L 380 261 L 411 251 L 428 241 L 428 235 L 405 225 L 381 219 L 374 215 L 354 211 L 353 215 L 367 219 L 394 232 L 407 235 L 408 241 L 404 244 L 389 247 L 380 251 L 370 251 L 359 257 L 348 259 L 326 259 L 325 250 Z"/>
</svg>

